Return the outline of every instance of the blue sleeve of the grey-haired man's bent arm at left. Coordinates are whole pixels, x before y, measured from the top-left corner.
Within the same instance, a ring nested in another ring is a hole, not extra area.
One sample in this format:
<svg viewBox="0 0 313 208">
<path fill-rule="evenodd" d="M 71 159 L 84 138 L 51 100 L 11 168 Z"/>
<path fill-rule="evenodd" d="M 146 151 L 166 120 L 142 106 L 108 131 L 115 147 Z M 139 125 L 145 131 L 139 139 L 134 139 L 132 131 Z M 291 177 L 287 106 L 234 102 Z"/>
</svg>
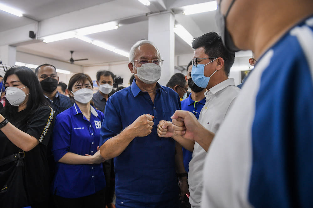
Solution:
<svg viewBox="0 0 313 208">
<path fill-rule="evenodd" d="M 105 143 L 111 137 L 116 136 L 122 130 L 121 116 L 114 106 L 114 98 L 116 96 L 109 97 L 104 111 L 104 119 L 102 121 L 101 131 L 100 131 L 100 144 Z M 118 101 L 117 101 L 118 102 Z"/>
</svg>

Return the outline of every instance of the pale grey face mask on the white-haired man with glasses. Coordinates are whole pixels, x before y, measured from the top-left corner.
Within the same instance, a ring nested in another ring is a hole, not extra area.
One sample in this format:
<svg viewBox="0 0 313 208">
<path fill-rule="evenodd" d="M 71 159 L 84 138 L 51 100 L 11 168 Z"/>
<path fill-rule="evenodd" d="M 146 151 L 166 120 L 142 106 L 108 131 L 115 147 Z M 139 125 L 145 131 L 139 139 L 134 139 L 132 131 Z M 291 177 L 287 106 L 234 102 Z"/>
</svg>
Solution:
<svg viewBox="0 0 313 208">
<path fill-rule="evenodd" d="M 134 67 L 137 69 L 137 77 L 146 84 L 156 83 L 161 77 L 161 66 L 147 63 L 141 65 L 141 67 Z"/>
</svg>

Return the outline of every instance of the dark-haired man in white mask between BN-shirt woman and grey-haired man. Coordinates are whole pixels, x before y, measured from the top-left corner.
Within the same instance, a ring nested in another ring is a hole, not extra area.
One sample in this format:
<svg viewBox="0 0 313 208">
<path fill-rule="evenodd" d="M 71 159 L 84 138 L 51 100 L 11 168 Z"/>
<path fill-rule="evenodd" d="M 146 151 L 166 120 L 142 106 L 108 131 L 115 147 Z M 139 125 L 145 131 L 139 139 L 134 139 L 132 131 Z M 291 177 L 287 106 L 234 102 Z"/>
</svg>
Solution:
<svg viewBox="0 0 313 208">
<path fill-rule="evenodd" d="M 92 102 L 95 104 L 95 108 L 104 113 L 105 104 L 111 94 L 114 93 L 113 89 L 114 74 L 110 71 L 101 70 L 97 71 L 97 85 L 99 91 L 92 97 Z"/>
</svg>

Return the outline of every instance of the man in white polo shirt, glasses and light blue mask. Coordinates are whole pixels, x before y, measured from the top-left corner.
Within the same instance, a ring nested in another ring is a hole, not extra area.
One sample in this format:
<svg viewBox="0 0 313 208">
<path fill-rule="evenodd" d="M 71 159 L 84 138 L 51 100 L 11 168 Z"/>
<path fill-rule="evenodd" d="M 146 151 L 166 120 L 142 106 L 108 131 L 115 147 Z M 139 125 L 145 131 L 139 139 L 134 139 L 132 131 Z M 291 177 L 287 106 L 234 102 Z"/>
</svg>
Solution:
<svg viewBox="0 0 313 208">
<path fill-rule="evenodd" d="M 192 48 L 195 49 L 192 60 L 192 80 L 199 87 L 208 90 L 205 92 L 206 100 L 200 112 L 199 122 L 203 128 L 215 133 L 240 90 L 235 86 L 234 79 L 228 79 L 235 54 L 224 48 L 221 37 L 215 32 L 195 38 Z M 195 116 L 193 117 L 196 119 Z M 188 173 L 189 201 L 192 207 L 200 207 L 203 163 L 210 142 L 202 138 L 193 138 L 193 140 L 182 138 L 173 133 L 170 121 L 160 121 L 158 134 L 160 137 L 172 137 L 184 148 L 192 151 Z"/>
</svg>

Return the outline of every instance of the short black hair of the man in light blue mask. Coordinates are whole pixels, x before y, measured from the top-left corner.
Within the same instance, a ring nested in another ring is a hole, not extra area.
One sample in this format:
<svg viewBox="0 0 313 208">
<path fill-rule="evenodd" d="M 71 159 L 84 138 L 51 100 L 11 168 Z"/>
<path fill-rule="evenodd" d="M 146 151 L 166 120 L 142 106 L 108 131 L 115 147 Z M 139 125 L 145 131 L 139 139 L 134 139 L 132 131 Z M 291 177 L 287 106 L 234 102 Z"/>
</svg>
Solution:
<svg viewBox="0 0 313 208">
<path fill-rule="evenodd" d="M 192 48 L 204 47 L 204 52 L 209 57 L 221 57 L 224 59 L 225 74 L 229 76 L 230 68 L 235 60 L 235 53 L 229 52 L 223 45 L 222 38 L 216 32 L 209 32 L 200 37 L 193 38 Z"/>
</svg>

